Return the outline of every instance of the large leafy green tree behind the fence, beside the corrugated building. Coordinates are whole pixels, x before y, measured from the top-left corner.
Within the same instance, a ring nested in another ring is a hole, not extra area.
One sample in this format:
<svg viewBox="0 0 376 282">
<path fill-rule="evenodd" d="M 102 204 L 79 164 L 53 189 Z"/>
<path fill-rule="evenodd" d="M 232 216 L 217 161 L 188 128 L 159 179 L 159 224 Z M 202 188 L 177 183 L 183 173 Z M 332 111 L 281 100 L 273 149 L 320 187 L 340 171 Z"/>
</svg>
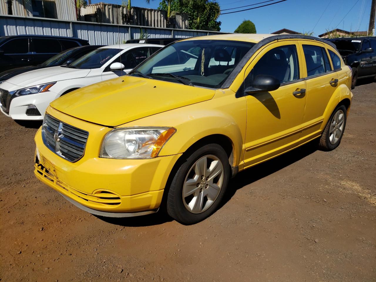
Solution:
<svg viewBox="0 0 376 282">
<path fill-rule="evenodd" d="M 190 29 L 220 31 L 220 5 L 216 0 L 162 0 L 159 10 L 170 10 L 188 15 Z"/>
</svg>

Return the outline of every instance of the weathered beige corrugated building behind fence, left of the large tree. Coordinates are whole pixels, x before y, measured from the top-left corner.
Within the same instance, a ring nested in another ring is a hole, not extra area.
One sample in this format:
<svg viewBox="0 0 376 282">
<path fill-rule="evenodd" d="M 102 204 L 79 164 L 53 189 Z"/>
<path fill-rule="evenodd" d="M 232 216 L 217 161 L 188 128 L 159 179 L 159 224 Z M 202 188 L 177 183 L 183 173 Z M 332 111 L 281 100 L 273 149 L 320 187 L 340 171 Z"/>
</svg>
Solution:
<svg viewBox="0 0 376 282">
<path fill-rule="evenodd" d="M 95 23 L 112 23 L 125 24 L 124 15 L 127 14 L 127 7 L 114 4 L 106 4 L 100 2 L 98 4 L 88 5 L 81 8 L 81 20 L 91 21 Z M 150 27 L 167 27 L 166 19 L 167 12 L 132 7 L 131 14 L 133 15 L 133 25 L 136 26 L 150 26 Z M 188 29 L 188 15 L 177 14 L 174 26 L 169 26 L 176 29 Z"/>
</svg>

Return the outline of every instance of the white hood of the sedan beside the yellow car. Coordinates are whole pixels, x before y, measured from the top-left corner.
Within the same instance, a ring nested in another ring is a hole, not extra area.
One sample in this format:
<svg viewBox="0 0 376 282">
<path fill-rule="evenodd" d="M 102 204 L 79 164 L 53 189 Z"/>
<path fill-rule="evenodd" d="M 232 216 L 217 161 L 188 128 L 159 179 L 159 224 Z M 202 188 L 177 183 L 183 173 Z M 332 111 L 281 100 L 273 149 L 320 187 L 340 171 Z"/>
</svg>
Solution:
<svg viewBox="0 0 376 282">
<path fill-rule="evenodd" d="M 89 72 L 90 70 L 88 69 L 57 66 L 28 71 L 27 73 L 14 76 L 7 81 L 21 87 L 29 87 L 54 81 L 85 77 Z"/>
</svg>

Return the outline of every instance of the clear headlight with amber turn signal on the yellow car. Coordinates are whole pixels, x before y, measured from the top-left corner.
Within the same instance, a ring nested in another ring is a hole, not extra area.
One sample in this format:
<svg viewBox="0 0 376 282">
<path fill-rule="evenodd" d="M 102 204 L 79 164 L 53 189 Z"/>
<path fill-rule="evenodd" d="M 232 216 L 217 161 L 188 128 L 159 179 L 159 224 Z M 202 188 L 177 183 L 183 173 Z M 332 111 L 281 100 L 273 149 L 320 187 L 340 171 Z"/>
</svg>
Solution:
<svg viewBox="0 0 376 282">
<path fill-rule="evenodd" d="M 155 158 L 175 132 L 173 127 L 117 128 L 106 134 L 99 156 L 111 159 Z"/>
</svg>

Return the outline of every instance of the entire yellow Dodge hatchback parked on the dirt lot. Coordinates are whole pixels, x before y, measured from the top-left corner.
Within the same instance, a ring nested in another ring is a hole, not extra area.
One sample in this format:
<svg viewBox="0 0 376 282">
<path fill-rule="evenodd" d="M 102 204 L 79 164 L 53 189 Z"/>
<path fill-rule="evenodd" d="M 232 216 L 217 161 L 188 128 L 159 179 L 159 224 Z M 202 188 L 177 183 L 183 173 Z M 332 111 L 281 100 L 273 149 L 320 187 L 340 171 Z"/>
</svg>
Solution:
<svg viewBox="0 0 376 282">
<path fill-rule="evenodd" d="M 35 136 L 35 175 L 92 214 L 166 208 L 180 223 L 197 223 L 238 171 L 316 138 L 335 149 L 350 87 L 351 69 L 323 39 L 183 39 L 127 76 L 52 102 Z"/>
</svg>

